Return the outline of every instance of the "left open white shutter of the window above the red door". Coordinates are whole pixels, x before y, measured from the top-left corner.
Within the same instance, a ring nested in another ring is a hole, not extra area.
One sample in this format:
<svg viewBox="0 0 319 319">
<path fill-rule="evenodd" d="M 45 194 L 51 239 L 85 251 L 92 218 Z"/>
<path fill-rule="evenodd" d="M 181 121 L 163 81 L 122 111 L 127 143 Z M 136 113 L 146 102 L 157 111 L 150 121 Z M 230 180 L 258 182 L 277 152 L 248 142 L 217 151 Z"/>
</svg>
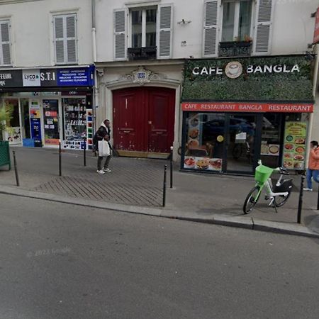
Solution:
<svg viewBox="0 0 319 319">
<path fill-rule="evenodd" d="M 127 9 L 116 9 L 113 17 L 114 28 L 114 59 L 126 60 L 127 57 Z"/>
</svg>

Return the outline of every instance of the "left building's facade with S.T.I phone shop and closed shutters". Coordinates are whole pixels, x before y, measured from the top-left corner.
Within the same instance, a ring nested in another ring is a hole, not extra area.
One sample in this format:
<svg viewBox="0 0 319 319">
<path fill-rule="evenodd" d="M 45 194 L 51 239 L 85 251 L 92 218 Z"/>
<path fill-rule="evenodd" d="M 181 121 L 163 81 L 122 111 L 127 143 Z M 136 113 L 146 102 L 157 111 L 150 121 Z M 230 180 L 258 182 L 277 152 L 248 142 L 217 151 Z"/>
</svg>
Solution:
<svg viewBox="0 0 319 319">
<path fill-rule="evenodd" d="M 13 111 L 6 139 L 84 147 L 93 133 L 91 3 L 0 1 L 0 27 L 1 106 Z"/>
</svg>

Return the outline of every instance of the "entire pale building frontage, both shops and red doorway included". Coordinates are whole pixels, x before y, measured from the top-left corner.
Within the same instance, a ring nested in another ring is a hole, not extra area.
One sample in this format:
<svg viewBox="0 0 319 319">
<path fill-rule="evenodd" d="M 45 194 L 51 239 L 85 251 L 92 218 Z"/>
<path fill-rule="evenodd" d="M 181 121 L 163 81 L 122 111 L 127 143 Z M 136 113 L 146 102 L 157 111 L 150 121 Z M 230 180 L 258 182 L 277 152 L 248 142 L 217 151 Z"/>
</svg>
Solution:
<svg viewBox="0 0 319 319">
<path fill-rule="evenodd" d="M 120 155 L 166 158 L 173 146 L 181 169 L 250 174 L 259 157 L 303 169 L 319 139 L 317 7 L 0 0 L 7 138 L 77 148 L 108 118 Z"/>
</svg>

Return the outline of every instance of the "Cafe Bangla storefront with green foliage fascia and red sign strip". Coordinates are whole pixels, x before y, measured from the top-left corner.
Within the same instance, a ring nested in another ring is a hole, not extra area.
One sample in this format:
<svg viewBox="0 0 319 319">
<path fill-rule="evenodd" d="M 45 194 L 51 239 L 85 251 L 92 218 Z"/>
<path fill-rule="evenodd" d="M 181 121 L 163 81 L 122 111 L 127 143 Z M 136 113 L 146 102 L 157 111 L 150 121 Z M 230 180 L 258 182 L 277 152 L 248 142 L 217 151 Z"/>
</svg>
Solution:
<svg viewBox="0 0 319 319">
<path fill-rule="evenodd" d="M 257 160 L 305 169 L 313 96 L 304 56 L 189 60 L 181 169 L 252 174 Z"/>
</svg>

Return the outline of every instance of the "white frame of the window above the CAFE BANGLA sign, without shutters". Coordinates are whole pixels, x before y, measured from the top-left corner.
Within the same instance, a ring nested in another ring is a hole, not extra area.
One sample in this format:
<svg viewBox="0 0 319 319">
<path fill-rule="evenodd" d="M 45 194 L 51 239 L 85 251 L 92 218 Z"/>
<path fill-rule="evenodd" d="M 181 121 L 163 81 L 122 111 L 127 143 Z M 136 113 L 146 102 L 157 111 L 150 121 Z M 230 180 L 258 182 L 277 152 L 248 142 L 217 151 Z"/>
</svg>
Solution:
<svg viewBox="0 0 319 319">
<path fill-rule="evenodd" d="M 242 1 L 250 1 L 252 3 L 252 14 L 250 16 L 250 34 L 249 37 L 253 39 L 254 35 L 254 21 L 255 21 L 255 15 L 256 15 L 256 5 L 255 1 L 253 0 L 223 0 L 221 1 L 220 6 L 220 21 L 219 21 L 219 36 L 218 40 L 220 43 L 228 42 L 228 41 L 222 41 L 223 38 L 223 16 L 224 16 L 224 4 L 228 2 L 235 2 L 235 18 L 234 18 L 234 33 L 233 33 L 233 40 L 230 42 L 235 42 L 235 38 L 238 37 L 238 30 L 239 30 L 239 15 L 240 15 L 240 2 Z M 243 41 L 243 40 L 240 40 Z"/>
</svg>

